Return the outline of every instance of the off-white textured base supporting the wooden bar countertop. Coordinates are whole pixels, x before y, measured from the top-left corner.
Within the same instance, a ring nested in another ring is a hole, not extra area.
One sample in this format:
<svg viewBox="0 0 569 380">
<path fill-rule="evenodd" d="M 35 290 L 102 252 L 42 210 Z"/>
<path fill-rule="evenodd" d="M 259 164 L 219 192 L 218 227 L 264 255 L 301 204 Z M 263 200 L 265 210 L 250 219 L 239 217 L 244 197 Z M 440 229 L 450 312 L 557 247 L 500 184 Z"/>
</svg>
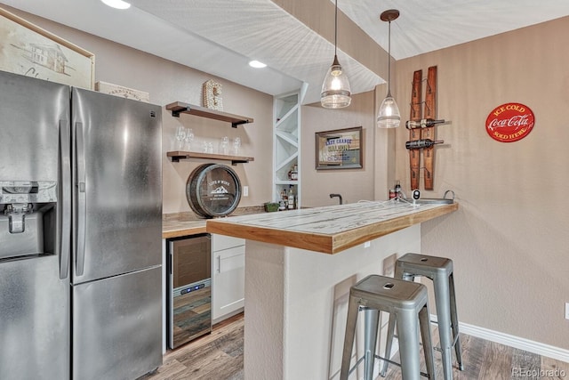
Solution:
<svg viewBox="0 0 569 380">
<path fill-rule="evenodd" d="M 246 380 L 340 378 L 349 287 L 369 274 L 383 274 L 384 260 L 393 260 L 394 254 L 420 252 L 421 225 L 365 246 L 323 255 L 246 241 Z M 357 347 L 359 358 L 363 329 L 358 332 Z"/>
</svg>

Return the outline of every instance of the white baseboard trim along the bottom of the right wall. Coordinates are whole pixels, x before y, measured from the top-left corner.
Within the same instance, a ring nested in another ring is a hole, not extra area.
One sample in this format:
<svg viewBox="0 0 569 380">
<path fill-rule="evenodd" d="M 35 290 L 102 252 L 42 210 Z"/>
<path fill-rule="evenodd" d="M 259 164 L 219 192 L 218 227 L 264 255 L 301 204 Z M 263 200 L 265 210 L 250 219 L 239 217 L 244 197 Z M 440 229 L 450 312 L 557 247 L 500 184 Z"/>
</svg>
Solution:
<svg viewBox="0 0 569 380">
<path fill-rule="evenodd" d="M 436 315 L 431 315 L 431 320 L 437 320 Z M 527 352 L 537 353 L 551 359 L 565 361 L 569 363 L 569 350 L 556 347 L 549 344 L 531 341 L 519 336 L 510 336 L 499 331 L 493 331 L 485 327 L 477 327 L 468 323 L 459 322 L 459 331 L 461 334 L 476 336 L 498 344 L 505 344 Z"/>
</svg>

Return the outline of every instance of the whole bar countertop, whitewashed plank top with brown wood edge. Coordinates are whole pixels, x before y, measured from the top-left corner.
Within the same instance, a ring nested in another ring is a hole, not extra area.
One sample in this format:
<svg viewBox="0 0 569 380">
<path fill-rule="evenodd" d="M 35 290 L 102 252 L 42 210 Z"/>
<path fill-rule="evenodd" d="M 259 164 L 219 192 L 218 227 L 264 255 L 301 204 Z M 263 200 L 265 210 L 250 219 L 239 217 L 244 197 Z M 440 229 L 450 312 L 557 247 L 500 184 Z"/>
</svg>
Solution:
<svg viewBox="0 0 569 380">
<path fill-rule="evenodd" d="M 403 202 L 364 201 L 347 205 L 210 219 L 206 231 L 284 247 L 337 254 L 413 224 L 458 209 L 450 205 L 412 206 Z"/>
</svg>

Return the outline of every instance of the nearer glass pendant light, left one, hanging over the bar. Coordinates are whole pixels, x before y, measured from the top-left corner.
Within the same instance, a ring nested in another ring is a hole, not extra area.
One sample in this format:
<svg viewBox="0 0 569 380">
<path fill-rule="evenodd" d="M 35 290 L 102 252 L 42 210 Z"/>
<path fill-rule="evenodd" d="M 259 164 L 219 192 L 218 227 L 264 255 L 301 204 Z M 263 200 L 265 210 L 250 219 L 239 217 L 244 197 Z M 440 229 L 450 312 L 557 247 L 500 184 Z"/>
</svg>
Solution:
<svg viewBox="0 0 569 380">
<path fill-rule="evenodd" d="M 334 14 L 334 61 L 322 84 L 320 93 L 320 103 L 326 109 L 343 109 L 348 107 L 352 101 L 351 90 L 346 72 L 341 69 L 337 55 L 338 43 L 338 0 L 336 0 L 336 11 Z"/>
</svg>

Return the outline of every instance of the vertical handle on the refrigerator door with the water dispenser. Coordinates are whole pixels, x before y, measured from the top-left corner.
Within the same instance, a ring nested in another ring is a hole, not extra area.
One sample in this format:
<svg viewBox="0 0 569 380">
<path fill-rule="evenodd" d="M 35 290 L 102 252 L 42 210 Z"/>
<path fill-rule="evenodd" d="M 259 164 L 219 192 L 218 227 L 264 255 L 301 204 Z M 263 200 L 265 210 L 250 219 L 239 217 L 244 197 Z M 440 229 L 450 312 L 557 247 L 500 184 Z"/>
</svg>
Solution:
<svg viewBox="0 0 569 380">
<path fill-rule="evenodd" d="M 60 279 L 67 279 L 71 252 L 71 153 L 69 151 L 69 122 L 60 120 L 61 165 L 61 227 L 60 227 Z"/>
</svg>

